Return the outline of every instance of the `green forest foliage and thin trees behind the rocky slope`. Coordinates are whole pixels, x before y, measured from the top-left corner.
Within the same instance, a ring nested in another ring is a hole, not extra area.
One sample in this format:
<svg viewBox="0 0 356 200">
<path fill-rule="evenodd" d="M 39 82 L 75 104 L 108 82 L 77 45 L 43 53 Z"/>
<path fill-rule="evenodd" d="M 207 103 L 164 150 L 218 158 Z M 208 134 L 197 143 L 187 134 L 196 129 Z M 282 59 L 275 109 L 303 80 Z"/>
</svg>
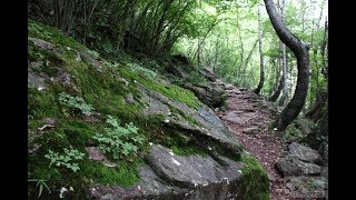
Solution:
<svg viewBox="0 0 356 200">
<path fill-rule="evenodd" d="M 255 89 L 258 84 L 257 8 L 263 1 L 30 0 L 28 3 L 30 18 L 56 26 L 103 57 L 115 59 L 125 51 L 135 57 L 165 59 L 180 53 L 196 67 L 211 69 L 237 87 Z M 286 27 L 309 46 L 310 83 L 303 113 L 315 122 L 322 118 L 327 102 L 327 3 L 275 1 Z M 276 101 L 276 106 L 285 106 L 296 88 L 296 58 L 286 48 L 284 79 L 283 43 L 266 9 L 260 10 L 265 68 L 260 94 Z"/>
</svg>

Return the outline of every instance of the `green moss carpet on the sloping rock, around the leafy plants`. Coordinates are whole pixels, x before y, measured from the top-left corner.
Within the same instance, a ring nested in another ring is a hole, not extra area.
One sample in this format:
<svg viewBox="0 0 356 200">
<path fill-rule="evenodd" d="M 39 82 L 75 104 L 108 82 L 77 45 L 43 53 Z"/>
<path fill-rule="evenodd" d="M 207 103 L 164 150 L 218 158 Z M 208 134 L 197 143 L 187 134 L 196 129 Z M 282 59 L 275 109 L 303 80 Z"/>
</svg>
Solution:
<svg viewBox="0 0 356 200">
<path fill-rule="evenodd" d="M 131 60 L 125 59 L 119 63 L 107 62 L 73 39 L 61 34 L 57 29 L 32 20 L 29 20 L 29 37 L 48 41 L 55 44 L 56 49 L 43 50 L 29 40 L 29 61 L 42 62 L 36 69 L 37 73 L 53 77 L 59 69 L 63 69 L 72 76 L 71 86 L 48 80 L 44 90 L 39 91 L 33 88 L 28 90 L 29 149 L 40 146 L 34 154 L 29 153 L 28 156 L 29 179 L 43 179 L 47 186 L 52 189 L 71 186 L 76 192 L 92 182 L 129 187 L 139 181 L 137 166 L 142 163 L 142 160 L 138 157 L 122 157 L 116 161 L 119 169 L 107 168 L 98 161 L 88 159 L 85 147 L 92 142 L 91 137 L 96 132 L 103 133 L 107 124 L 103 121 L 99 123 L 87 122 L 76 110 L 60 104 L 58 101 L 60 92 L 81 97 L 95 108 L 95 111 L 103 117 L 110 114 L 119 119 L 121 124 L 134 122 L 139 128 L 139 133 L 146 139 L 140 149 L 142 151 L 148 148 L 149 141 L 165 142 L 175 147 L 174 150 L 181 154 L 198 151 L 194 144 L 188 144 L 186 149 L 179 148 L 180 143 L 186 143 L 185 138 L 177 138 L 177 134 L 171 133 L 172 131 L 161 127 L 160 116 L 142 117 L 140 114 L 140 110 L 145 106 L 140 103 L 140 93 L 136 82 L 191 108 L 201 107 L 200 101 L 191 91 L 175 84 L 161 83 L 159 74 L 141 68 L 138 62 L 132 63 Z M 99 72 L 83 59 L 77 61 L 78 54 L 82 53 L 99 60 L 102 63 L 102 72 Z M 136 102 L 127 103 L 125 101 L 127 94 L 131 94 Z M 44 124 L 44 118 L 57 119 L 56 128 L 37 132 L 37 128 Z M 191 119 L 187 120 L 191 121 Z M 61 166 L 49 167 L 50 161 L 44 158 L 44 154 L 49 150 L 61 153 L 63 148 L 73 148 L 86 153 L 83 160 L 78 161 L 79 171 L 72 172 Z M 198 153 L 205 154 L 204 152 Z M 36 182 L 30 182 L 29 193 L 37 194 L 34 190 L 38 190 Z"/>
</svg>

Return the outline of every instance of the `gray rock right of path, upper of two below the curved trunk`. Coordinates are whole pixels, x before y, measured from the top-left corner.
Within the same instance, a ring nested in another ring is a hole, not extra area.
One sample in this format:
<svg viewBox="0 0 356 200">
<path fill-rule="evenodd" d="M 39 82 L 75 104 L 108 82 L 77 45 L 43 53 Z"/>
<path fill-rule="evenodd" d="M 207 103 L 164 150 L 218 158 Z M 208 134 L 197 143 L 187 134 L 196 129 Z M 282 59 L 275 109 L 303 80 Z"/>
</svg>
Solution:
<svg viewBox="0 0 356 200">
<path fill-rule="evenodd" d="M 318 162 L 320 161 L 320 154 L 314 150 L 310 149 L 306 146 L 303 146 L 300 143 L 293 142 L 289 144 L 289 156 L 296 157 L 301 161 L 307 161 L 307 162 Z"/>
</svg>

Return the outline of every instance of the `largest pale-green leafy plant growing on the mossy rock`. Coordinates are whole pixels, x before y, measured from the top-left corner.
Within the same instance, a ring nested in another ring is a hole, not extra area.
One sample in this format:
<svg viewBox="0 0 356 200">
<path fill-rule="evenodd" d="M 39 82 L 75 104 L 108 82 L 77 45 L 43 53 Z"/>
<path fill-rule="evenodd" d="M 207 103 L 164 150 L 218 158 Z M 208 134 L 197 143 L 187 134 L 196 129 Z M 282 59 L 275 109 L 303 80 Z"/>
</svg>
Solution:
<svg viewBox="0 0 356 200">
<path fill-rule="evenodd" d="M 138 134 L 138 128 L 132 122 L 121 127 L 117 119 L 108 116 L 106 121 L 111 127 L 106 128 L 106 134 L 96 133 L 92 139 L 99 142 L 99 149 L 103 153 L 110 153 L 113 159 L 121 154 L 136 153 L 138 146 L 144 143 L 144 138 Z"/>
</svg>

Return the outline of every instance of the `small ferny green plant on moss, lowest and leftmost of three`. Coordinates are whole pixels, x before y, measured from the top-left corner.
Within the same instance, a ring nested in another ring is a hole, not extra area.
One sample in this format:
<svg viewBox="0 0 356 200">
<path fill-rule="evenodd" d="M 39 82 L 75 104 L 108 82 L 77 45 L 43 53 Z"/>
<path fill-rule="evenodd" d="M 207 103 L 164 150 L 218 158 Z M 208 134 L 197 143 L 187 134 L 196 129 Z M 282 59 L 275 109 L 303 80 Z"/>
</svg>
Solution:
<svg viewBox="0 0 356 200">
<path fill-rule="evenodd" d="M 56 163 L 57 167 L 65 166 L 73 172 L 78 171 L 80 169 L 78 163 L 72 161 L 82 160 L 86 153 L 82 153 L 77 149 L 68 150 L 65 148 L 63 150 L 65 154 L 58 154 L 58 152 L 53 152 L 52 150 L 49 150 L 49 153 L 44 154 L 47 159 L 51 160 L 49 167 Z"/>
</svg>

